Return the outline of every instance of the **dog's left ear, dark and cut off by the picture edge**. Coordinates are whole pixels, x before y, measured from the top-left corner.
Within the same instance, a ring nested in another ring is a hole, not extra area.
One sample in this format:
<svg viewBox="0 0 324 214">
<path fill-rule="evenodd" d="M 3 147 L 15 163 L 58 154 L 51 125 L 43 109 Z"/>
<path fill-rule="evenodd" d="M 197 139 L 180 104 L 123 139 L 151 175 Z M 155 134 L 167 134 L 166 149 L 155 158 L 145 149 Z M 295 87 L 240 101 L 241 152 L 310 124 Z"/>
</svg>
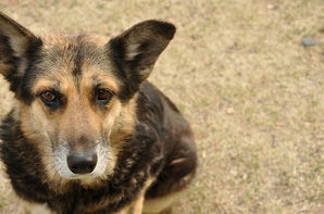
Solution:
<svg viewBox="0 0 324 214">
<path fill-rule="evenodd" d="M 24 74 L 24 64 L 35 45 L 41 40 L 12 18 L 0 13 L 0 74 L 10 83 L 11 90 L 16 91 Z"/>
</svg>

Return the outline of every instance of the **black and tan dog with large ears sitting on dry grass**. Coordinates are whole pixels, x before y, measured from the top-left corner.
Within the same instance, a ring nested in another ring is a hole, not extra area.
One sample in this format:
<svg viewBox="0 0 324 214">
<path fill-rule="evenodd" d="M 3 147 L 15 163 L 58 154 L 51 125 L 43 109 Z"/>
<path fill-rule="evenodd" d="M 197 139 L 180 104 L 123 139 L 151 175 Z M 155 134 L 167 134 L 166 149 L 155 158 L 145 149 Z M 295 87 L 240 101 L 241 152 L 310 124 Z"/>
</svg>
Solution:
<svg viewBox="0 0 324 214">
<path fill-rule="evenodd" d="M 113 38 L 40 37 L 0 14 L 0 73 L 15 98 L 0 154 L 26 213 L 172 212 L 197 151 L 147 77 L 175 32 L 149 20 Z"/>
</svg>

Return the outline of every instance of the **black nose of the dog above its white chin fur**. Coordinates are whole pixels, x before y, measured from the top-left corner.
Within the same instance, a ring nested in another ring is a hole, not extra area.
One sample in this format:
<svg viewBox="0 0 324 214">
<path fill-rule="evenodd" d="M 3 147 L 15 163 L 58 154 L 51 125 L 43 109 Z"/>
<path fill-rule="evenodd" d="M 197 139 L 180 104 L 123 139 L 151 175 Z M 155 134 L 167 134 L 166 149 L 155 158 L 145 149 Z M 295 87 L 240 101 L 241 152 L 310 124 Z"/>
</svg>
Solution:
<svg viewBox="0 0 324 214">
<path fill-rule="evenodd" d="M 97 164 L 96 153 L 74 153 L 67 156 L 67 166 L 74 174 L 91 173 Z"/>
</svg>

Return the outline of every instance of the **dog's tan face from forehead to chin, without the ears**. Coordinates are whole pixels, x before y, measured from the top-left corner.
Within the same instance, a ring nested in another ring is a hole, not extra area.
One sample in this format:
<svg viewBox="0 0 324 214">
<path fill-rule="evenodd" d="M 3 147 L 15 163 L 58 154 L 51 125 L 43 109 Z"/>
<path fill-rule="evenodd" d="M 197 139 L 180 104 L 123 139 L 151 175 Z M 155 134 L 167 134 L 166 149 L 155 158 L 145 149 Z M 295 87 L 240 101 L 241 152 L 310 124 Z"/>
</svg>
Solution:
<svg viewBox="0 0 324 214">
<path fill-rule="evenodd" d="M 23 83 L 30 104 L 21 103 L 21 116 L 26 116 L 22 128 L 46 136 L 48 152 L 64 178 L 112 173 L 119 146 L 114 136 L 133 131 L 133 99 L 119 98 L 123 85 L 104 40 L 42 38 L 38 62 L 27 71 L 32 77 Z"/>
</svg>

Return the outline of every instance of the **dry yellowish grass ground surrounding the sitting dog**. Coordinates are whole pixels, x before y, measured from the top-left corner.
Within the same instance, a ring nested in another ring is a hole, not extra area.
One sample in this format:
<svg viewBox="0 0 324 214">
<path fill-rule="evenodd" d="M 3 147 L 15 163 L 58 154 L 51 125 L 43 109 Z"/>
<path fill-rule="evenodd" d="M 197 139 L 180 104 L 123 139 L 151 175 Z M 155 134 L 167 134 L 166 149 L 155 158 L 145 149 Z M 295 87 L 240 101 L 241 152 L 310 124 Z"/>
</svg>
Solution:
<svg viewBox="0 0 324 214">
<path fill-rule="evenodd" d="M 116 35 L 146 18 L 177 25 L 150 77 L 191 122 L 199 148 L 196 182 L 175 213 L 323 212 L 322 0 L 85 2 L 0 8 L 38 34 Z M 302 47 L 304 36 L 316 46 Z M 10 96 L 0 84 L 4 115 Z M 10 192 L 0 177 L 2 213 L 15 213 Z"/>
</svg>

